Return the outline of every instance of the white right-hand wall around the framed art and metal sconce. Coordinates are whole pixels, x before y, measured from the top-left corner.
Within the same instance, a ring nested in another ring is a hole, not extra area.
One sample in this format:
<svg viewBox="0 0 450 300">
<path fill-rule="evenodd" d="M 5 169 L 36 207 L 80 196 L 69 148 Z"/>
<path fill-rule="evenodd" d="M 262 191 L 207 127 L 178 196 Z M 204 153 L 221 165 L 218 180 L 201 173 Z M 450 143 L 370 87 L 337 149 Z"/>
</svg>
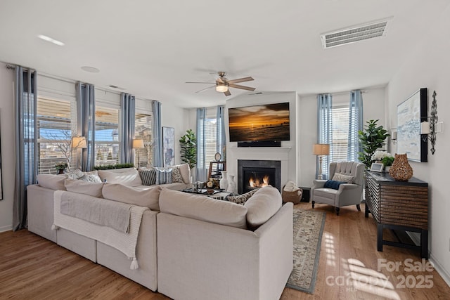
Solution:
<svg viewBox="0 0 450 300">
<path fill-rule="evenodd" d="M 450 285 L 450 201 L 449 154 L 450 149 L 450 8 L 436 15 L 435 24 L 425 41 L 416 51 L 409 53 L 406 63 L 395 74 L 387 87 L 388 122 L 396 124 L 397 105 L 414 91 L 428 88 L 428 115 L 432 93 L 437 93 L 437 115 L 444 121 L 444 133 L 437 133 L 435 155 L 428 152 L 428 162 L 410 162 L 414 177 L 429 183 L 429 244 L 430 260 Z M 430 148 L 430 145 L 429 147 Z"/>
</svg>

